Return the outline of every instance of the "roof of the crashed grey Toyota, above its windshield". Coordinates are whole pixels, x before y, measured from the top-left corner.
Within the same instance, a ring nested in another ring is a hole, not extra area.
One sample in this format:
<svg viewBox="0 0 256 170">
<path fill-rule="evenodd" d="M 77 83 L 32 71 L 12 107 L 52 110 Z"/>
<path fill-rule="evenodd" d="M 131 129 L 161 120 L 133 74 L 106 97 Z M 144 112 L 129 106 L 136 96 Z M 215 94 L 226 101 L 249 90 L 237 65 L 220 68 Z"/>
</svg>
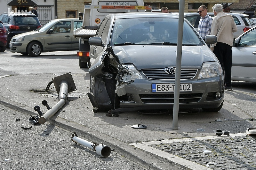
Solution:
<svg viewBox="0 0 256 170">
<path fill-rule="evenodd" d="M 109 14 L 108 16 L 116 16 L 116 19 L 122 18 L 179 18 L 178 15 L 171 13 L 162 13 L 162 12 L 126 12 L 126 13 L 117 13 Z"/>
</svg>

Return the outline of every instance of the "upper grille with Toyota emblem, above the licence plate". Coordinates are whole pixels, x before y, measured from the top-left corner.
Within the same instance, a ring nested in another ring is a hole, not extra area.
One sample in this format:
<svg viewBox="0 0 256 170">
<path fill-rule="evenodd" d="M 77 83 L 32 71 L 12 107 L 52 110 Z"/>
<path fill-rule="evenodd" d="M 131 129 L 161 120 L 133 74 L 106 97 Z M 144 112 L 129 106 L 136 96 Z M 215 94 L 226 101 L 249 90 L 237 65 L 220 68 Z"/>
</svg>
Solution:
<svg viewBox="0 0 256 170">
<path fill-rule="evenodd" d="M 155 69 L 155 70 L 142 70 L 143 74 L 149 78 L 154 80 L 175 80 L 174 74 L 167 74 L 165 69 Z M 181 80 L 189 80 L 196 76 L 198 69 L 181 69 L 180 79 Z"/>
</svg>

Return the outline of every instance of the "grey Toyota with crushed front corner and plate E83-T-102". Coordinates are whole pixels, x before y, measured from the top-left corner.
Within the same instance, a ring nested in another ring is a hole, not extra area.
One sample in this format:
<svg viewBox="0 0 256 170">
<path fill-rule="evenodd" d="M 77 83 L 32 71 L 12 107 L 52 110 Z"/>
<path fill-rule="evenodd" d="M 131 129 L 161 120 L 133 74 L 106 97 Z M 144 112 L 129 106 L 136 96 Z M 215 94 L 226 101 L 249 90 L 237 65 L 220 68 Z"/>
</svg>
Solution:
<svg viewBox="0 0 256 170">
<path fill-rule="evenodd" d="M 172 109 L 178 16 L 120 13 L 104 18 L 89 39 L 88 96 L 93 111 Z M 224 101 L 223 71 L 216 56 L 184 19 L 180 108 L 218 112 Z"/>
</svg>

